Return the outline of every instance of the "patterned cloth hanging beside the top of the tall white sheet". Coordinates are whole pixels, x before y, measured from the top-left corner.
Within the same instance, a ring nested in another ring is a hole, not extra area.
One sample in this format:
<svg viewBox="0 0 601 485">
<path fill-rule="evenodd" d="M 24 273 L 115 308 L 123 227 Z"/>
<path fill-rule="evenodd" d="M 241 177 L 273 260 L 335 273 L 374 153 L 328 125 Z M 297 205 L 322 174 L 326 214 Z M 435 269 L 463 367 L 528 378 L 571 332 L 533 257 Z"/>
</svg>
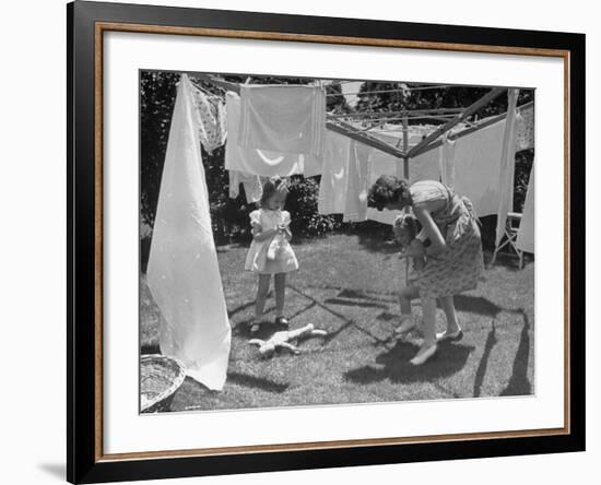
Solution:
<svg viewBox="0 0 601 485">
<path fill-rule="evenodd" d="M 223 102 L 209 97 L 203 91 L 190 83 L 191 99 L 198 117 L 200 143 L 211 154 L 225 143 L 226 116 Z"/>
</svg>

